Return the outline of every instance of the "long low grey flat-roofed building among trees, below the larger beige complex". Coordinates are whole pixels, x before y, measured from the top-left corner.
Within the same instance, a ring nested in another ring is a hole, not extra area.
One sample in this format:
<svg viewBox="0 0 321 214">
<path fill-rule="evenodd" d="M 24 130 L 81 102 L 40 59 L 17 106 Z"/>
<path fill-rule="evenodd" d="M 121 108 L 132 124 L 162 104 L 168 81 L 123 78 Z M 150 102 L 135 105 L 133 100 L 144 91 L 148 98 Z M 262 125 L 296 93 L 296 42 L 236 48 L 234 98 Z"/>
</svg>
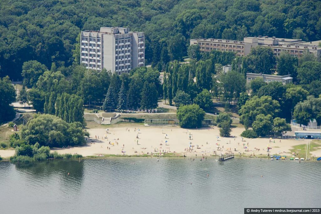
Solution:
<svg viewBox="0 0 321 214">
<path fill-rule="evenodd" d="M 291 77 L 291 74 L 279 76 L 279 75 L 273 75 L 273 74 L 247 73 L 246 74 L 247 84 L 250 84 L 250 82 L 252 80 L 255 80 L 256 78 L 262 78 L 263 81 L 266 83 L 282 82 L 283 85 L 293 82 L 293 78 Z"/>
</svg>

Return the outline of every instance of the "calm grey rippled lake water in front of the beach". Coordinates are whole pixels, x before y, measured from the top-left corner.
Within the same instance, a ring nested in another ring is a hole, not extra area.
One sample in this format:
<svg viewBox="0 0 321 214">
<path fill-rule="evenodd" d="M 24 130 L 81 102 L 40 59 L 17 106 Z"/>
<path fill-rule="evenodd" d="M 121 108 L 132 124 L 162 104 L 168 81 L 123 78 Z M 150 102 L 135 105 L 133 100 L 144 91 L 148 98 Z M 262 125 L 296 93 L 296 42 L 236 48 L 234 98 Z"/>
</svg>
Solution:
<svg viewBox="0 0 321 214">
<path fill-rule="evenodd" d="M 243 213 L 245 207 L 320 207 L 320 170 L 321 161 L 259 158 L 0 162 L 0 213 Z"/>
</svg>

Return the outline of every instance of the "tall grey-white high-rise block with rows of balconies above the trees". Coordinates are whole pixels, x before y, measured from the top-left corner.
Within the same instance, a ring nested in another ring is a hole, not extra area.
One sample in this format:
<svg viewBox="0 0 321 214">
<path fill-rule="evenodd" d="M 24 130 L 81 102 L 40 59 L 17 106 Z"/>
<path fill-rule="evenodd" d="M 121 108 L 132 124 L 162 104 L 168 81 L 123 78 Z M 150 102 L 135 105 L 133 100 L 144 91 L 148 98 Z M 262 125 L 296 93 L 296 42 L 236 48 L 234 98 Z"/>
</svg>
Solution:
<svg viewBox="0 0 321 214">
<path fill-rule="evenodd" d="M 129 73 L 145 66 L 145 35 L 128 28 L 101 27 L 81 32 L 81 64 L 100 72 Z"/>
</svg>

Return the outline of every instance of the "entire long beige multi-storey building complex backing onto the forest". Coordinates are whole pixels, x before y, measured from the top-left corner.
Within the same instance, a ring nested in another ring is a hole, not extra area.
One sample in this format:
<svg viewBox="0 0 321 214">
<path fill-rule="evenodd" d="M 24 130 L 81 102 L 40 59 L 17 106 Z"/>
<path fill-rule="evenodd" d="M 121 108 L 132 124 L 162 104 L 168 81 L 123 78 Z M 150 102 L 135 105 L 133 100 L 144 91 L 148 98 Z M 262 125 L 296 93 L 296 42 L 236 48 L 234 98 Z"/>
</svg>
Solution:
<svg viewBox="0 0 321 214">
<path fill-rule="evenodd" d="M 246 56 L 250 53 L 251 47 L 257 45 L 271 47 L 275 56 L 279 56 L 282 51 L 287 51 L 291 56 L 300 57 L 305 50 L 315 56 L 321 56 L 319 41 L 304 42 L 301 39 L 282 39 L 276 37 L 245 37 L 243 41 L 226 39 L 191 39 L 190 44 L 198 44 L 201 52 L 211 52 L 212 50 L 231 51 L 236 56 Z"/>
</svg>

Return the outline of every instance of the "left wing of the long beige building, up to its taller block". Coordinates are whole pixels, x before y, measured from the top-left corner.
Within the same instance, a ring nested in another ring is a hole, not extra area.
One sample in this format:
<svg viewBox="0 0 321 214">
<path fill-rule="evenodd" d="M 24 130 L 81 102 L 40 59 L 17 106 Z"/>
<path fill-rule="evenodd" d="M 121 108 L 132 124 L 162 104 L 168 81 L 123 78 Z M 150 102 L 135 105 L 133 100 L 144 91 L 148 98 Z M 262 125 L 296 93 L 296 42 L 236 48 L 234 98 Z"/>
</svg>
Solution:
<svg viewBox="0 0 321 214">
<path fill-rule="evenodd" d="M 190 44 L 198 44 L 201 52 L 211 52 L 212 50 L 231 51 L 236 56 L 246 56 L 250 53 L 251 47 L 257 46 L 256 37 L 244 38 L 244 41 L 228 39 L 191 39 Z"/>
</svg>

